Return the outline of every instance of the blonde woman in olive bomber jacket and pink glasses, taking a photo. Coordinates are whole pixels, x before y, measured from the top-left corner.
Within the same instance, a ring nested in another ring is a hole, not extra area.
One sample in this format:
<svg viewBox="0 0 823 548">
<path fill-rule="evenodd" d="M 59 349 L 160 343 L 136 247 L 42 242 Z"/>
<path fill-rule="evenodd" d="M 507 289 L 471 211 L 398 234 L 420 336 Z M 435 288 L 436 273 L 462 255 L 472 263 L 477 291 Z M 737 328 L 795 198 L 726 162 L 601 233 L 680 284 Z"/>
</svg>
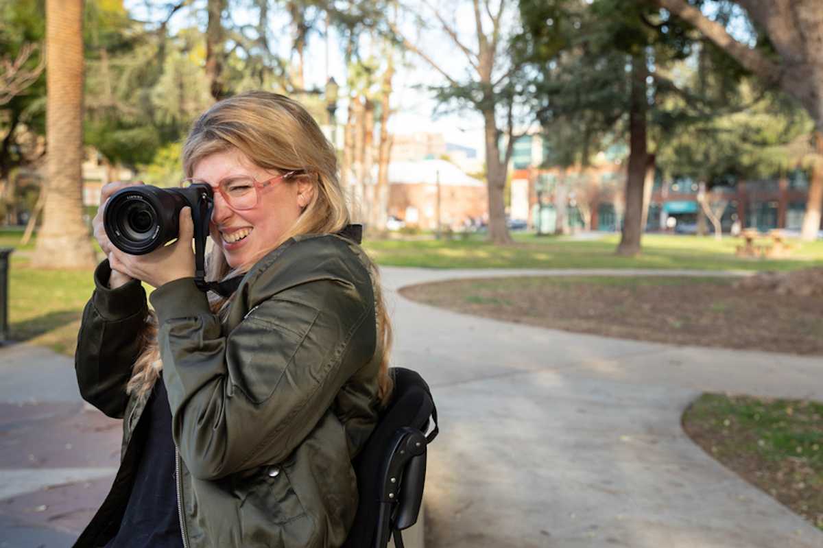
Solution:
<svg viewBox="0 0 823 548">
<path fill-rule="evenodd" d="M 76 546 L 340 546 L 357 504 L 351 458 L 391 380 L 376 269 L 340 234 L 334 151 L 300 104 L 252 92 L 194 123 L 183 164 L 214 190 L 207 279 L 244 276 L 228 298 L 198 290 L 188 208 L 179 240 L 142 256 L 114 248 L 95 217 L 108 260 L 77 379 L 123 418 L 123 447 Z M 123 186 L 104 187 L 104 207 Z M 140 281 L 156 287 L 154 312 Z"/>
</svg>

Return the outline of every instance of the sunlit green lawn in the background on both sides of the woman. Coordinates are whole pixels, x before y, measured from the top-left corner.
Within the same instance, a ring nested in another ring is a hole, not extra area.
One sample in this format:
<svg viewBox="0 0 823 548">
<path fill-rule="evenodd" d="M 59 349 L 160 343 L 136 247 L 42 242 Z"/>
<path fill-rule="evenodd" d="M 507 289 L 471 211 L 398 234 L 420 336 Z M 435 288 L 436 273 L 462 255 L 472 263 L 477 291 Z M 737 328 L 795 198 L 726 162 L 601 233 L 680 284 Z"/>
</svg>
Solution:
<svg viewBox="0 0 823 548">
<path fill-rule="evenodd" d="M 10 268 L 9 318 L 12 338 L 34 341 L 71 354 L 81 308 L 91 295 L 91 272 L 30 268 L 34 239 L 20 245 L 22 229 L 0 230 L 0 247 L 16 248 Z M 734 257 L 736 239 L 647 235 L 638 258 L 617 257 L 618 235 L 579 241 L 514 235 L 515 244 L 495 247 L 482 235 L 466 240 L 367 240 L 365 248 L 381 265 L 435 268 L 694 268 L 700 270 L 791 270 L 823 263 L 823 242 L 793 242 L 788 260 Z M 764 240 L 765 244 L 765 240 Z"/>
</svg>

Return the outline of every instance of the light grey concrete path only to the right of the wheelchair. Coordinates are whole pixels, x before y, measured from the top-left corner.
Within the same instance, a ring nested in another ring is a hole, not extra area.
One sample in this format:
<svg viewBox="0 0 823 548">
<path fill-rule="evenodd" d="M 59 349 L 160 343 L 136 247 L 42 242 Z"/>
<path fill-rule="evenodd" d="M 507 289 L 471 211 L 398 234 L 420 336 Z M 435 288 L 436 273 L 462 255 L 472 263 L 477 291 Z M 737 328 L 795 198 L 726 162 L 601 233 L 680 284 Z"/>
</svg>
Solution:
<svg viewBox="0 0 823 548">
<path fill-rule="evenodd" d="M 703 391 L 823 400 L 819 358 L 552 331 L 396 292 L 536 273 L 384 268 L 394 365 L 421 371 L 441 418 L 426 481 L 429 548 L 823 546 L 823 533 L 680 425 Z"/>
</svg>

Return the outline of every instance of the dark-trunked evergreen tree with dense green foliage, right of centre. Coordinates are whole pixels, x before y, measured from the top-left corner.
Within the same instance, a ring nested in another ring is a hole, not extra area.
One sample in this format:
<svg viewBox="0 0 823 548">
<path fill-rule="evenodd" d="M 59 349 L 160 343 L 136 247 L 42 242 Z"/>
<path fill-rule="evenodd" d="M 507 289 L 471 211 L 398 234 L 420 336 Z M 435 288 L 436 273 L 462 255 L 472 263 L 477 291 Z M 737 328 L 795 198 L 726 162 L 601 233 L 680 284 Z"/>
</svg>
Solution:
<svg viewBox="0 0 823 548">
<path fill-rule="evenodd" d="M 580 136 L 562 146 L 577 146 L 581 165 L 604 134 L 627 134 L 625 207 L 620 208 L 625 218 L 617 253 L 635 255 L 644 228 L 645 182 L 653 171 L 649 124 L 672 92 L 656 83 L 656 75 L 688 56 L 690 41 L 681 27 L 656 25 L 653 9 L 639 3 L 521 0 L 520 5 L 526 40 L 536 44 L 532 63 L 540 75 L 535 94 L 544 130 L 556 132 L 559 122 L 576 125 Z M 560 45 L 540 49 L 544 42 Z"/>
</svg>

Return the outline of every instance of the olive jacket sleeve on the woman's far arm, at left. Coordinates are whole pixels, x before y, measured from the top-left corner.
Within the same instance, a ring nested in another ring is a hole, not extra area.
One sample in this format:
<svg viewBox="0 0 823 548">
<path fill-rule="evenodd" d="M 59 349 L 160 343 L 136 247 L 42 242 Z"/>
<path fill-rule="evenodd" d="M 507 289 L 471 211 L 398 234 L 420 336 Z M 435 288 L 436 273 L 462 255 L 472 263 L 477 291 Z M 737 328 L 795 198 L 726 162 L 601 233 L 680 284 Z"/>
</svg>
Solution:
<svg viewBox="0 0 823 548">
<path fill-rule="evenodd" d="M 111 268 L 105 260 L 95 269 L 95 291 L 83 309 L 74 369 L 86 402 L 115 419 L 128 403 L 126 384 L 140 353 L 146 323 L 146 291 L 137 280 L 110 290 Z"/>
</svg>

